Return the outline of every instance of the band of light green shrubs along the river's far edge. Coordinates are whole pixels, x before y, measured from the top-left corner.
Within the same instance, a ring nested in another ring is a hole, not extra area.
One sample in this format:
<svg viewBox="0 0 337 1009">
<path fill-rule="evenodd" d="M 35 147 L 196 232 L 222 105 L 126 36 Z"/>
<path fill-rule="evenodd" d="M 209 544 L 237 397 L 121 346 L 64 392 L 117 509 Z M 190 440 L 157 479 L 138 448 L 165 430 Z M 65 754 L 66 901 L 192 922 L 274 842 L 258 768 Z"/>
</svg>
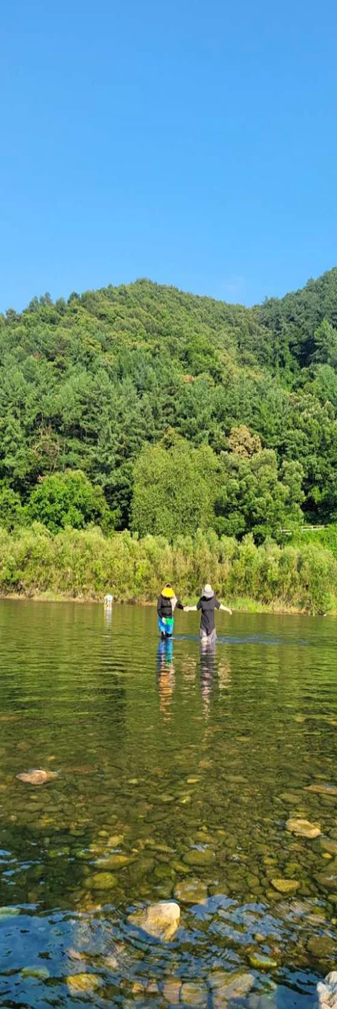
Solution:
<svg viewBox="0 0 337 1009">
<path fill-rule="evenodd" d="M 197 532 L 169 544 L 98 528 L 52 536 L 37 523 L 0 530 L 2 595 L 100 599 L 112 591 L 117 601 L 152 602 L 167 580 L 186 600 L 206 580 L 238 608 L 337 611 L 337 559 L 313 543 L 257 546 L 250 536 L 237 543 Z"/>
</svg>

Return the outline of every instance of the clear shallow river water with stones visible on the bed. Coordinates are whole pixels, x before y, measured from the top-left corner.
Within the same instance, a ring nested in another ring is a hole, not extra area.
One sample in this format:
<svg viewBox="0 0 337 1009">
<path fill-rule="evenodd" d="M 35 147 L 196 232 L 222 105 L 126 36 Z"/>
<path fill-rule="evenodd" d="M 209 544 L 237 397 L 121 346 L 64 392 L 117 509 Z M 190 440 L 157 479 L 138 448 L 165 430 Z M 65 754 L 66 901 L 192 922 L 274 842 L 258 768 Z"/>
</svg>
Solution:
<svg viewBox="0 0 337 1009">
<path fill-rule="evenodd" d="M 152 607 L 1 601 L 1 1007 L 317 1005 L 337 967 L 336 629 L 219 613 L 200 655 L 197 613 L 165 647 Z M 56 775 L 17 780 L 31 768 Z M 128 922 L 174 895 L 170 942 Z"/>
</svg>

